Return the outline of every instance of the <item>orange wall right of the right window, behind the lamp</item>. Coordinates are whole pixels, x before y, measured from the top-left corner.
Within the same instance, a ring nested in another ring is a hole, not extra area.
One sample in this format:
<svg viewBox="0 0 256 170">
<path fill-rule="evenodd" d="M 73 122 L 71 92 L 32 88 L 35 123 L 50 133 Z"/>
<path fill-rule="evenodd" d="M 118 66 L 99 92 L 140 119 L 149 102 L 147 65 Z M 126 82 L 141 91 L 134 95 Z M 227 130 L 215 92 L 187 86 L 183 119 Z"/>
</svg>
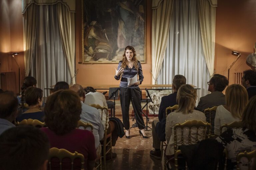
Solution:
<svg viewBox="0 0 256 170">
<path fill-rule="evenodd" d="M 230 84 L 234 84 L 236 71 L 250 69 L 246 57 L 253 53 L 256 42 L 256 1 L 220 0 L 216 9 L 215 63 L 216 73 L 228 76 L 228 67 L 236 56 L 242 55 L 230 69 Z"/>
</svg>

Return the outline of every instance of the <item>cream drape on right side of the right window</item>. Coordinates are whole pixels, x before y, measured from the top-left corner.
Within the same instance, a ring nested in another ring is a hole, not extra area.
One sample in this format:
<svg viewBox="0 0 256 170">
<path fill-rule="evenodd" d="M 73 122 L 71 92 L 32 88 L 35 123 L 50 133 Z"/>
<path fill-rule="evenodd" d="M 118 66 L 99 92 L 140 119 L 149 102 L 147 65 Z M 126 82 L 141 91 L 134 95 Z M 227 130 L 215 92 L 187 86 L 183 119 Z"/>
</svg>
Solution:
<svg viewBox="0 0 256 170">
<path fill-rule="evenodd" d="M 210 76 L 214 74 L 215 16 L 216 7 L 207 0 L 198 0 L 199 23 L 201 29 L 204 57 Z M 217 2 L 216 2 L 217 5 Z"/>
</svg>

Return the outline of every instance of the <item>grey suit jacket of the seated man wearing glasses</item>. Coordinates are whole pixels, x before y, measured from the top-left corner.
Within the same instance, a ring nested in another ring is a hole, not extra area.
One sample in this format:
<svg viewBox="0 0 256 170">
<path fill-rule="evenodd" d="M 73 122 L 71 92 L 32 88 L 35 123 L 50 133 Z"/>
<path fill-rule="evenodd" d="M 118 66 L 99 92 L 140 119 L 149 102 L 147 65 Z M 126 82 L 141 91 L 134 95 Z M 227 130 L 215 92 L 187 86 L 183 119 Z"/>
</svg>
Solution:
<svg viewBox="0 0 256 170">
<path fill-rule="evenodd" d="M 196 110 L 204 112 L 205 109 L 213 106 L 225 105 L 225 95 L 220 91 L 212 92 L 206 96 L 200 98 L 200 101 L 196 107 Z"/>
</svg>

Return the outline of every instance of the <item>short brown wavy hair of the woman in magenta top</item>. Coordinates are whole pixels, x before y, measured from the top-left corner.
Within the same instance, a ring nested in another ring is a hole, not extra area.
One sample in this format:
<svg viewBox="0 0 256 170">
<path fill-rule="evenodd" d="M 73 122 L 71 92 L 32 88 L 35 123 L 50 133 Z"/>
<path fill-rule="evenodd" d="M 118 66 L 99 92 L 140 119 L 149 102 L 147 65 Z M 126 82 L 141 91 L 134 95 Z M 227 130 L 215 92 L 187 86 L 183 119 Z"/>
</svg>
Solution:
<svg viewBox="0 0 256 170">
<path fill-rule="evenodd" d="M 78 94 L 59 90 L 48 97 L 44 108 L 45 124 L 57 135 L 64 135 L 77 127 L 82 112 Z"/>
</svg>

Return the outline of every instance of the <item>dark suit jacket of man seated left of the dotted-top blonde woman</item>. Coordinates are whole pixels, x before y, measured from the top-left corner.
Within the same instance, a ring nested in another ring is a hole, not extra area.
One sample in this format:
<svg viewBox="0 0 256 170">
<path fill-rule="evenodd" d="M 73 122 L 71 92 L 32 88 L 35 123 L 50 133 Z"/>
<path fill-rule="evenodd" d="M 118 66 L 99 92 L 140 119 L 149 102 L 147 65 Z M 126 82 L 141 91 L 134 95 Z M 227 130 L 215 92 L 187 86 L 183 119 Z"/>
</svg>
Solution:
<svg viewBox="0 0 256 170">
<path fill-rule="evenodd" d="M 159 112 L 158 112 L 159 122 L 156 124 L 156 133 L 160 141 L 165 141 L 165 124 L 166 124 L 165 109 L 169 106 L 177 105 L 176 97 L 177 97 L 177 92 L 174 92 L 168 96 L 162 97 L 160 107 L 159 107 Z"/>
</svg>

